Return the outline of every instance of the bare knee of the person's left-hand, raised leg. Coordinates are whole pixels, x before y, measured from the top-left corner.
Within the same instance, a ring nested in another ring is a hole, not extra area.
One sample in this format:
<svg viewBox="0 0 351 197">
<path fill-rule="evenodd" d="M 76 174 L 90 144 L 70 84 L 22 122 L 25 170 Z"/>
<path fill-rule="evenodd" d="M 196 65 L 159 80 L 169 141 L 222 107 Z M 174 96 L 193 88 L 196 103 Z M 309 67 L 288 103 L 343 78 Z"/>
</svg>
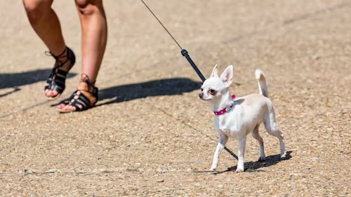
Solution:
<svg viewBox="0 0 351 197">
<path fill-rule="evenodd" d="M 50 0 L 23 0 L 25 11 L 30 20 L 43 17 L 44 13 L 51 8 Z"/>
</svg>

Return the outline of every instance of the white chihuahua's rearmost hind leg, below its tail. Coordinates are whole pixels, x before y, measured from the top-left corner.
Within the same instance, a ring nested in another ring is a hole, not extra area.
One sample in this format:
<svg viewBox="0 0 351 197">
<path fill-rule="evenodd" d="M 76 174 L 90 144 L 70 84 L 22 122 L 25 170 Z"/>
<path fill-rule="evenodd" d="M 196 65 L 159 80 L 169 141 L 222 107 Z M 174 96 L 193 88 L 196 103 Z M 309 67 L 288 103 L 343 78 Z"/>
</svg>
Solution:
<svg viewBox="0 0 351 197">
<path fill-rule="evenodd" d="M 286 149 L 284 144 L 284 134 L 278 130 L 277 122 L 275 120 L 274 109 L 270 108 L 269 113 L 267 113 L 263 118 L 263 123 L 265 123 L 265 129 L 270 135 L 278 137 L 280 142 L 280 156 L 282 158 L 286 157 Z"/>
</svg>

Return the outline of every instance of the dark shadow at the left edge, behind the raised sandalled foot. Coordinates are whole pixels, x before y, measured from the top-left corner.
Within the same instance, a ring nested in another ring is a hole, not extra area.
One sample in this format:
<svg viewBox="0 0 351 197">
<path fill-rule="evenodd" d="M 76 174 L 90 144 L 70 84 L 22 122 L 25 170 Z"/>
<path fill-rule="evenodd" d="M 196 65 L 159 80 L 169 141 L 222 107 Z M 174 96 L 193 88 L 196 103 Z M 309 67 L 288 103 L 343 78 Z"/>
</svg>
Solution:
<svg viewBox="0 0 351 197">
<path fill-rule="evenodd" d="M 51 69 L 37 69 L 34 71 L 21 73 L 0 73 L 0 89 L 13 88 L 11 92 L 0 95 L 0 97 L 17 92 L 20 90 L 18 86 L 29 85 L 39 81 L 46 81 L 50 72 Z M 69 73 L 67 74 L 67 79 L 75 75 L 76 74 Z"/>
</svg>

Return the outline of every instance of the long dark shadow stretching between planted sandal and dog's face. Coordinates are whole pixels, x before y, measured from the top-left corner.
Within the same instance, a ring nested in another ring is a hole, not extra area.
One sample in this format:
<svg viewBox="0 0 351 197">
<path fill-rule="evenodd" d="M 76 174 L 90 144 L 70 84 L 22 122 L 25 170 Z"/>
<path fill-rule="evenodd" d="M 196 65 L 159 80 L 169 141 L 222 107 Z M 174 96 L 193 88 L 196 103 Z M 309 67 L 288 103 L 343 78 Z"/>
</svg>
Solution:
<svg viewBox="0 0 351 197">
<path fill-rule="evenodd" d="M 102 102 L 100 105 L 111 104 L 115 102 L 125 102 L 144 97 L 153 97 L 161 95 L 181 95 L 190 93 L 201 87 L 201 82 L 192 81 L 191 79 L 159 79 L 145 83 L 128 84 L 124 86 L 114 86 L 99 91 L 99 100 L 109 100 Z"/>
</svg>

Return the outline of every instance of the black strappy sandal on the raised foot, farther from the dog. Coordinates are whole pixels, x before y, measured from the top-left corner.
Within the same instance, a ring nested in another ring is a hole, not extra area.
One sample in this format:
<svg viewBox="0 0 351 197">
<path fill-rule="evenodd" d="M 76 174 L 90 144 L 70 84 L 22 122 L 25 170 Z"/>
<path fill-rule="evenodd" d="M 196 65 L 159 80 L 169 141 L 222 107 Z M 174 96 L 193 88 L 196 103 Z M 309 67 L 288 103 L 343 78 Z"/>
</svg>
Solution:
<svg viewBox="0 0 351 197">
<path fill-rule="evenodd" d="M 64 55 L 67 51 L 67 55 Z M 46 86 L 44 90 L 55 90 L 58 92 L 58 95 L 55 97 L 48 97 L 48 100 L 53 100 L 58 98 L 63 90 L 65 90 L 65 81 L 66 81 L 66 76 L 68 72 L 65 72 L 60 69 L 68 60 L 70 61 L 69 64 L 69 69 L 72 69 L 74 63 L 76 62 L 76 56 L 74 55 L 73 51 L 66 46 L 65 50 L 58 55 L 55 56 L 53 53 L 50 51 L 46 51 L 46 55 L 51 55 L 53 58 L 55 58 L 55 67 L 53 67 L 53 70 L 51 71 L 51 74 L 48 76 L 48 80 L 46 81 Z M 62 57 L 67 57 L 67 60 L 61 61 L 60 58 Z"/>
</svg>

